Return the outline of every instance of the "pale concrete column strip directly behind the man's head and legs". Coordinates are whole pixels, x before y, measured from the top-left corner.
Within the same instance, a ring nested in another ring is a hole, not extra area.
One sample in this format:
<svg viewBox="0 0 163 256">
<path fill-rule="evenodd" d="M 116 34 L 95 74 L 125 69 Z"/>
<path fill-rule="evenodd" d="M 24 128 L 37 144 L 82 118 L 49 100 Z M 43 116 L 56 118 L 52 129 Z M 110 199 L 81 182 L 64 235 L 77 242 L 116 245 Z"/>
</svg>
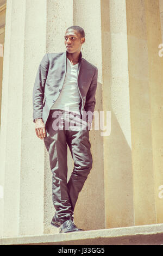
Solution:
<svg viewBox="0 0 163 256">
<path fill-rule="evenodd" d="M 47 0 L 47 33 L 46 51 L 65 52 L 64 35 L 66 28 L 73 25 L 73 0 Z M 73 169 L 70 150 L 68 150 L 68 177 Z M 68 178 L 67 177 L 67 178 Z M 52 203 L 52 172 L 49 166 L 49 156 L 45 148 L 44 176 L 44 233 L 54 234 L 58 229 L 50 225 L 55 209 Z"/>
</svg>

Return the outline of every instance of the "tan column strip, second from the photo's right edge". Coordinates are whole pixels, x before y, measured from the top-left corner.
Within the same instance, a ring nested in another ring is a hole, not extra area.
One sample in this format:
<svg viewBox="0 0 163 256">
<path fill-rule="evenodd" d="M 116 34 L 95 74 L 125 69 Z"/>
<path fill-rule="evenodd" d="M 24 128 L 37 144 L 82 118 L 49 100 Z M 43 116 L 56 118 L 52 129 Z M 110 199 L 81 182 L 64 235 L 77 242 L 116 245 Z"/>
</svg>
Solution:
<svg viewBox="0 0 163 256">
<path fill-rule="evenodd" d="M 135 224 L 155 219 L 145 1 L 126 1 Z"/>
</svg>

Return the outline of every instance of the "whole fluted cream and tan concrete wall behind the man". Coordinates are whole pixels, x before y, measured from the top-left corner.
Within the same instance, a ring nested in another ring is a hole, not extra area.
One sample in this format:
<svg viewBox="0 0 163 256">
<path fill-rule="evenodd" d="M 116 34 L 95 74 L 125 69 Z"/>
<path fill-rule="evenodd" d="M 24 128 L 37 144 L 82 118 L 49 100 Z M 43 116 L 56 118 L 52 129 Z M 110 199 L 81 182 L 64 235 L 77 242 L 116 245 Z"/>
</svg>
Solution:
<svg viewBox="0 0 163 256">
<path fill-rule="evenodd" d="M 34 131 L 32 90 L 43 55 L 66 51 L 71 25 L 85 29 L 83 57 L 98 68 L 95 110 L 111 113 L 109 136 L 90 131 L 93 167 L 75 223 L 84 230 L 162 223 L 162 6 L 158 0 L 7 1 L 0 236 L 58 233 L 49 224 L 52 174 Z M 72 169 L 68 151 L 68 178 Z"/>
</svg>

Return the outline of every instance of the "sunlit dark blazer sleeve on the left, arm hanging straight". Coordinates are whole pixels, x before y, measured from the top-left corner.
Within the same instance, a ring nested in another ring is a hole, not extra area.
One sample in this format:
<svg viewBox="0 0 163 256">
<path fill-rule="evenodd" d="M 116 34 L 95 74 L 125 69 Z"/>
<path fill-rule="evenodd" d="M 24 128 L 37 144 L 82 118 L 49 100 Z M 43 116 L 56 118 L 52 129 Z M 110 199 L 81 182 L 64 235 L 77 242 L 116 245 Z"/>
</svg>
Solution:
<svg viewBox="0 0 163 256">
<path fill-rule="evenodd" d="M 44 97 L 44 88 L 46 83 L 46 78 L 48 74 L 49 62 L 48 53 L 43 56 L 39 68 L 37 69 L 37 74 L 33 87 L 33 121 L 36 118 L 42 118 L 42 102 Z"/>
</svg>

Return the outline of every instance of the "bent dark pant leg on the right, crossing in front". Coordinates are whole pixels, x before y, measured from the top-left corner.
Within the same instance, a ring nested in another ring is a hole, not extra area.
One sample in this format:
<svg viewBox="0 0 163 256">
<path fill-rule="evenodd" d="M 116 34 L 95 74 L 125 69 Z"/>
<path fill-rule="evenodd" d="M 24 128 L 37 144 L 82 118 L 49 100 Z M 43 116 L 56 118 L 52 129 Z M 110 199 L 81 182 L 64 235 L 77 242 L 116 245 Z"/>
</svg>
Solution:
<svg viewBox="0 0 163 256">
<path fill-rule="evenodd" d="M 71 116 L 69 118 L 70 120 L 72 119 Z M 77 123 L 84 123 L 82 119 L 78 117 L 77 120 Z M 67 131 L 67 144 L 74 161 L 74 168 L 67 183 L 72 211 L 74 211 L 78 194 L 82 190 L 84 182 L 92 168 L 91 143 L 89 140 L 88 127 L 86 127 L 86 130 L 83 130 L 75 129 L 75 127 L 71 129 L 70 126 L 70 130 Z"/>
</svg>

